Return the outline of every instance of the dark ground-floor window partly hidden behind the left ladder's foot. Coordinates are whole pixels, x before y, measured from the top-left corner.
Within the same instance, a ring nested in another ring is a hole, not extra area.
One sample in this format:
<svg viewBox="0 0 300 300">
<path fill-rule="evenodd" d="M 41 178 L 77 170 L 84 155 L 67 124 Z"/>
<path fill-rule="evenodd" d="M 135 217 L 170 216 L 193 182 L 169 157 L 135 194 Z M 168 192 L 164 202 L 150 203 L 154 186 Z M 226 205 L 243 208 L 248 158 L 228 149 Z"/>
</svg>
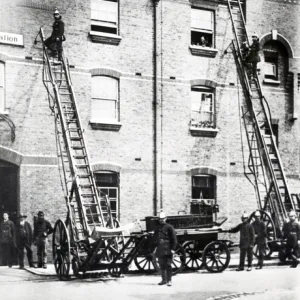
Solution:
<svg viewBox="0 0 300 300">
<path fill-rule="evenodd" d="M 119 220 L 119 176 L 115 172 L 96 172 L 95 182 L 98 188 L 101 206 L 105 205 L 105 197 L 108 196 L 112 216 Z M 103 210 L 104 212 L 104 210 Z M 104 213 L 107 220 L 107 215 Z"/>
</svg>

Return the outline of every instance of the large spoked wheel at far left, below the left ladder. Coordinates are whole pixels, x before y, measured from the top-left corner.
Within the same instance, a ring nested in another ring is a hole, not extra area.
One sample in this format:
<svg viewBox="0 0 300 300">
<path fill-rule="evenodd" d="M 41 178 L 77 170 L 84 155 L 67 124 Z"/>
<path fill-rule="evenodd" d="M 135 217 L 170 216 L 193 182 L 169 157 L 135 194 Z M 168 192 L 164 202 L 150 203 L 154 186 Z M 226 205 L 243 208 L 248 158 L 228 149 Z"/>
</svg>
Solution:
<svg viewBox="0 0 300 300">
<path fill-rule="evenodd" d="M 56 274 L 60 280 L 69 279 L 70 272 L 70 237 L 62 220 L 57 220 L 52 239 L 53 260 Z"/>
</svg>

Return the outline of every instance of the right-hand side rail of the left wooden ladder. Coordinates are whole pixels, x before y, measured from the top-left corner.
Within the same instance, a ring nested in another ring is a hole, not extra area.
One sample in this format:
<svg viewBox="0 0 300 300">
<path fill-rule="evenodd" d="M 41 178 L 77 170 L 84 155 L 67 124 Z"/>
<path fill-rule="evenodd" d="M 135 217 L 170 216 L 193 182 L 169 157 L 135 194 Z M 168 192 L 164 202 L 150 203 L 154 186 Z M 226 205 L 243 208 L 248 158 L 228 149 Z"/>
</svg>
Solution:
<svg viewBox="0 0 300 300">
<path fill-rule="evenodd" d="M 91 165 L 90 165 L 90 160 L 89 160 L 89 154 L 88 154 L 88 151 L 87 151 L 85 140 L 83 138 L 84 133 L 83 133 L 83 130 L 82 130 L 81 120 L 80 120 L 80 117 L 79 117 L 79 114 L 78 114 L 78 106 L 77 106 L 77 101 L 76 101 L 76 98 L 75 98 L 74 88 L 73 88 L 73 85 L 72 85 L 72 82 L 71 82 L 71 76 L 70 76 L 69 68 L 66 65 L 66 61 L 65 61 L 64 57 L 62 58 L 62 60 L 63 60 L 63 67 L 64 67 L 64 70 L 66 72 L 67 84 L 68 84 L 68 87 L 69 87 L 70 92 L 71 92 L 72 103 L 74 105 L 75 113 L 76 113 L 76 116 L 77 116 L 78 127 L 79 127 L 79 129 L 81 131 L 81 135 L 82 135 L 82 144 L 83 144 L 84 149 L 85 149 L 86 161 L 87 161 L 87 165 L 88 165 L 88 168 L 89 168 L 89 171 L 90 171 L 90 174 L 91 174 L 92 187 L 93 187 L 94 194 L 95 194 L 94 197 L 97 201 L 101 221 L 102 221 L 102 224 L 104 226 L 104 216 L 103 216 L 102 209 L 101 209 L 101 204 L 100 204 L 100 199 L 99 199 L 98 192 L 97 192 L 96 182 L 95 182 L 94 175 L 93 175 L 93 172 L 91 171 L 91 167 L 90 167 Z"/>
</svg>

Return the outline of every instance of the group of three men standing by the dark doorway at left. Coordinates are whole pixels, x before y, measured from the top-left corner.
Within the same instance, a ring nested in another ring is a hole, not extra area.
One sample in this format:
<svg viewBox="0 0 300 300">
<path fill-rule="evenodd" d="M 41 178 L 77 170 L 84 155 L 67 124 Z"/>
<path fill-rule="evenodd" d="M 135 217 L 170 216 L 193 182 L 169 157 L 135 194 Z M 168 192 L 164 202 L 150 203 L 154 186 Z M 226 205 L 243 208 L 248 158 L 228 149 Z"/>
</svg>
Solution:
<svg viewBox="0 0 300 300">
<path fill-rule="evenodd" d="M 19 268 L 24 268 L 24 252 L 26 250 L 29 267 L 47 268 L 47 237 L 53 232 L 53 228 L 44 218 L 42 211 L 38 212 L 37 220 L 34 222 L 34 230 L 27 216 L 20 214 L 15 225 L 9 220 L 8 213 L 3 214 L 0 223 L 0 247 L 2 263 L 12 267 L 14 254 L 18 254 Z M 32 244 L 37 247 L 38 264 L 33 264 Z"/>
</svg>

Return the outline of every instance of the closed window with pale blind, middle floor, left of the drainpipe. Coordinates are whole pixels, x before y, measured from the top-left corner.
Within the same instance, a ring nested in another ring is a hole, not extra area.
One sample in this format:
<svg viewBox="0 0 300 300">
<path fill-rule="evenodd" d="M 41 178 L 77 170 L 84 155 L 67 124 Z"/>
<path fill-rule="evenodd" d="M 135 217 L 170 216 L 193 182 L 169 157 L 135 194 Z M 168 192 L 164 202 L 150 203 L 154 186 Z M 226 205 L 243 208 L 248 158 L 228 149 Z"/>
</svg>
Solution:
<svg viewBox="0 0 300 300">
<path fill-rule="evenodd" d="M 108 76 L 92 77 L 91 119 L 118 122 L 119 81 Z"/>
</svg>

